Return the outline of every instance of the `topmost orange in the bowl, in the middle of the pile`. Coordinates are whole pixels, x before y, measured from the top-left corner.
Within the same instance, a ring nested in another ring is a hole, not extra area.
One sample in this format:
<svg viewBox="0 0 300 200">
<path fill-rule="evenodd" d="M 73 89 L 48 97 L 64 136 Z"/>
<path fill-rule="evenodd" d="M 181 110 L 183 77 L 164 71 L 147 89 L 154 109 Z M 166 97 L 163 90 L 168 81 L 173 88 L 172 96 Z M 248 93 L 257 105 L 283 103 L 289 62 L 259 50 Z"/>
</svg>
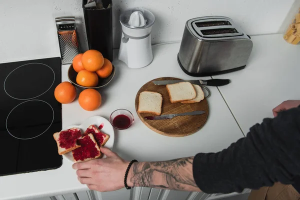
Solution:
<svg viewBox="0 0 300 200">
<path fill-rule="evenodd" d="M 81 62 L 86 70 L 96 71 L 103 66 L 104 58 L 97 50 L 87 50 L 83 53 Z"/>
</svg>

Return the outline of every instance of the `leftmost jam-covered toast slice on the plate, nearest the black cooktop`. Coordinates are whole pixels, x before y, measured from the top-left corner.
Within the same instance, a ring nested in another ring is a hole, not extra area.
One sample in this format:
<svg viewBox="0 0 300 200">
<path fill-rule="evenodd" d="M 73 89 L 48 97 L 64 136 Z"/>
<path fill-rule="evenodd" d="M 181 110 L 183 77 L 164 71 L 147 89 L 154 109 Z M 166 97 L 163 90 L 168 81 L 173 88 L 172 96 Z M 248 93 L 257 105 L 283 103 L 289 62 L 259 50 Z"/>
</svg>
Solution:
<svg viewBox="0 0 300 200">
<path fill-rule="evenodd" d="M 70 128 L 55 132 L 53 137 L 57 143 L 58 154 L 62 155 L 80 147 L 76 141 L 81 137 L 81 130 L 79 128 Z"/>
</svg>

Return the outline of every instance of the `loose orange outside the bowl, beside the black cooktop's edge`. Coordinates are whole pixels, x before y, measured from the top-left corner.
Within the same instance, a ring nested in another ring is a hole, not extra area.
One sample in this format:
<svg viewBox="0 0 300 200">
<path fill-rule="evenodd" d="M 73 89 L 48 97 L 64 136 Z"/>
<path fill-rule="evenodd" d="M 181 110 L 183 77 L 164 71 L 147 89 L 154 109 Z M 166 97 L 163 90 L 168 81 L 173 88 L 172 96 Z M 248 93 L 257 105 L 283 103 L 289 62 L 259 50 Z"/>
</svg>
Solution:
<svg viewBox="0 0 300 200">
<path fill-rule="evenodd" d="M 61 82 L 55 87 L 54 96 L 60 103 L 70 103 L 76 98 L 76 88 L 70 82 Z"/>
</svg>

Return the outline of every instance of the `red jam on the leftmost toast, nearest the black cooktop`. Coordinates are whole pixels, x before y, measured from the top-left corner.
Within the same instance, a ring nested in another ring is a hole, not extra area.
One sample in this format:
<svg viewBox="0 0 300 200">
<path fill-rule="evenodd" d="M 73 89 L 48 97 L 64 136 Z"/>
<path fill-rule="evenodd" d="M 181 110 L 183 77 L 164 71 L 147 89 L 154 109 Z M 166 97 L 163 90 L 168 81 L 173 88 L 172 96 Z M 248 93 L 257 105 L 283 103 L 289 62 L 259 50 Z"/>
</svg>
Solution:
<svg viewBox="0 0 300 200">
<path fill-rule="evenodd" d="M 76 140 L 81 136 L 80 129 L 67 129 L 59 134 L 59 146 L 61 148 L 71 148 L 76 144 Z"/>
</svg>

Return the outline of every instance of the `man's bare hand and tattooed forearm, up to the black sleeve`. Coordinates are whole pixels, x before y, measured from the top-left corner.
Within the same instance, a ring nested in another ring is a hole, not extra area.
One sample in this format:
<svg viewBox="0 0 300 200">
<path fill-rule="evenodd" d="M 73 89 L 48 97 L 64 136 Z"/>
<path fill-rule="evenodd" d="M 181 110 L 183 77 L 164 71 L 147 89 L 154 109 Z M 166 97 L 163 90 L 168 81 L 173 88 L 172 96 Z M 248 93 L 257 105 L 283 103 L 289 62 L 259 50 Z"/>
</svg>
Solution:
<svg viewBox="0 0 300 200">
<path fill-rule="evenodd" d="M 109 148 L 101 147 L 107 157 L 77 162 L 78 180 L 89 189 L 113 191 L 124 187 L 124 175 L 129 164 Z M 192 174 L 193 157 L 168 161 L 134 162 L 127 176 L 127 185 L 164 189 L 200 191 Z"/>
</svg>

